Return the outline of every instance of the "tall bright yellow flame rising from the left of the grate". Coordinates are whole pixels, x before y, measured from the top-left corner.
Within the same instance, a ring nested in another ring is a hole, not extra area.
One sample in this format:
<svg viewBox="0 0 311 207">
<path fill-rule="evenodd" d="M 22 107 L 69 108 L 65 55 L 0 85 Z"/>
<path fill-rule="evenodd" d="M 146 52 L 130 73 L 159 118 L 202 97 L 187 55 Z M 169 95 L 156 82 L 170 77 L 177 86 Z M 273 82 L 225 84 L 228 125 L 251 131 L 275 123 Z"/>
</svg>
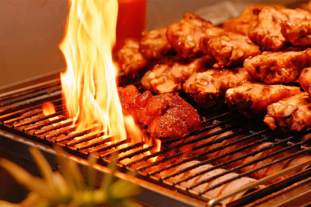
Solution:
<svg viewBox="0 0 311 207">
<path fill-rule="evenodd" d="M 118 98 L 112 47 L 118 1 L 71 1 L 67 32 L 60 44 L 67 71 L 61 74 L 63 95 L 69 116 L 80 124 L 77 131 L 98 122 L 106 135 L 126 131 Z"/>
</svg>

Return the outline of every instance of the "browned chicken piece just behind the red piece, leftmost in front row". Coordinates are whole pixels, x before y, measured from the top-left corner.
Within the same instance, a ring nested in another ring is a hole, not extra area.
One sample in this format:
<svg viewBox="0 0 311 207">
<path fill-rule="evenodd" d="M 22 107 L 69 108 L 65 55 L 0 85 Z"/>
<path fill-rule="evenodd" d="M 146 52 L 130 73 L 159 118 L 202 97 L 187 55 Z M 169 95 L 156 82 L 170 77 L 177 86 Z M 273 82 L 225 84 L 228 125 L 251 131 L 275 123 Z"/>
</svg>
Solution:
<svg viewBox="0 0 311 207">
<path fill-rule="evenodd" d="M 242 81 L 252 81 L 244 68 L 208 69 L 202 73 L 193 73 L 183 84 L 183 90 L 194 97 L 203 108 L 209 108 L 216 103 L 225 102 L 225 92 L 234 84 Z"/>
</svg>

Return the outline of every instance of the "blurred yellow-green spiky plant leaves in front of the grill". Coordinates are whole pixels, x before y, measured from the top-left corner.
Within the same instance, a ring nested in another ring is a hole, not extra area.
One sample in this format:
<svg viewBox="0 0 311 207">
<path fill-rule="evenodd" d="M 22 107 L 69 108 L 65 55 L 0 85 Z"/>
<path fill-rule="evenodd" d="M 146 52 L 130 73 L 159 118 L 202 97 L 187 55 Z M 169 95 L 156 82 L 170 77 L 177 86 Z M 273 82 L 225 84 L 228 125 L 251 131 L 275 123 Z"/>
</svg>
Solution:
<svg viewBox="0 0 311 207">
<path fill-rule="evenodd" d="M 140 187 L 127 180 L 115 181 L 115 163 L 110 164 L 111 174 L 104 175 L 100 188 L 95 189 L 92 185 L 95 179 L 92 165 L 96 158 L 89 156 L 87 188 L 77 163 L 62 156 L 59 148 L 57 159 L 62 173 L 53 171 L 38 149 L 30 148 L 29 151 L 42 178 L 33 176 L 14 162 L 1 158 L 0 166 L 30 192 L 19 204 L 0 200 L 0 206 L 140 206 L 128 198 L 138 195 Z"/>
</svg>

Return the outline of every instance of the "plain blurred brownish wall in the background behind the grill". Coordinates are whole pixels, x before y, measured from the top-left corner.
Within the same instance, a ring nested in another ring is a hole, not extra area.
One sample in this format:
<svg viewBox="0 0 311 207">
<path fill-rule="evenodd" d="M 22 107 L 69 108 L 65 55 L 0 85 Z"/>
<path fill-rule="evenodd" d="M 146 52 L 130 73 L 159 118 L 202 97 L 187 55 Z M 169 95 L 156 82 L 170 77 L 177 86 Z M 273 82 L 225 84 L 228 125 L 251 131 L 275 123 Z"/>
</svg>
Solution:
<svg viewBox="0 0 311 207">
<path fill-rule="evenodd" d="M 146 29 L 167 27 L 187 11 L 194 12 L 220 2 L 224 1 L 147 0 Z M 299 5 L 303 1 L 231 2 L 241 11 L 251 3 Z M 58 44 L 63 37 L 67 4 L 67 0 L 0 0 L 0 86 L 66 66 Z"/>
</svg>

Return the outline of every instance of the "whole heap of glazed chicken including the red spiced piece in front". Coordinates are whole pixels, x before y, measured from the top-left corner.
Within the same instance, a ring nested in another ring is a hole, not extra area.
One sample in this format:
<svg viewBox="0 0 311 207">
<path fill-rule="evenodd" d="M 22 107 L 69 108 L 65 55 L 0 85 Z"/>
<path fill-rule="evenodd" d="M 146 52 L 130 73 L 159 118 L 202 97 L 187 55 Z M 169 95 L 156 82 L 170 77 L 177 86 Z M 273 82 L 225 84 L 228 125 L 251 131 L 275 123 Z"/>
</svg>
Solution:
<svg viewBox="0 0 311 207">
<path fill-rule="evenodd" d="M 159 139 L 181 138 L 200 126 L 197 112 L 178 96 L 183 89 L 203 108 L 226 103 L 246 117 L 264 117 L 272 130 L 309 128 L 308 4 L 250 5 L 222 28 L 188 12 L 167 28 L 143 32 L 140 41 L 127 39 L 117 60 L 126 74 L 147 71 L 141 84 L 148 91 L 118 88 L 123 113 Z"/>
</svg>

